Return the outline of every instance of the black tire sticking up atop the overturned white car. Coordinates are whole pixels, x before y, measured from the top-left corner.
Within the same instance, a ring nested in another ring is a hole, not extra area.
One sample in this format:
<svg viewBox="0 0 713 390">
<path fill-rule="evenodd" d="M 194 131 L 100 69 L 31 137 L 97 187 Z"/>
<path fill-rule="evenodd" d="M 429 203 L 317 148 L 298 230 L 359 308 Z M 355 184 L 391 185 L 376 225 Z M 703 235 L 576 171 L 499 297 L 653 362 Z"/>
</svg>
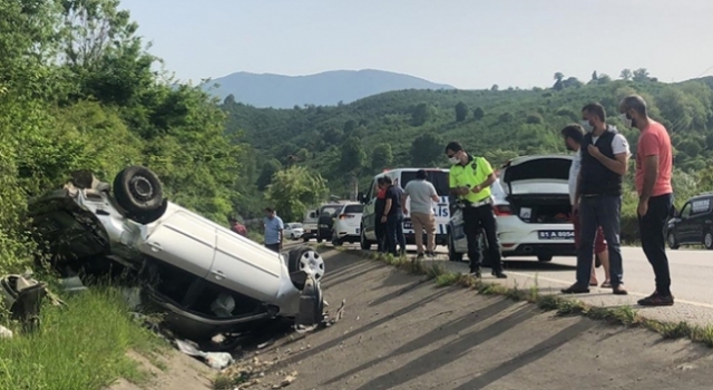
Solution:
<svg viewBox="0 0 713 390">
<path fill-rule="evenodd" d="M 145 216 L 164 203 L 164 189 L 158 176 L 143 166 L 129 166 L 114 178 L 114 197 L 129 214 Z"/>
</svg>

